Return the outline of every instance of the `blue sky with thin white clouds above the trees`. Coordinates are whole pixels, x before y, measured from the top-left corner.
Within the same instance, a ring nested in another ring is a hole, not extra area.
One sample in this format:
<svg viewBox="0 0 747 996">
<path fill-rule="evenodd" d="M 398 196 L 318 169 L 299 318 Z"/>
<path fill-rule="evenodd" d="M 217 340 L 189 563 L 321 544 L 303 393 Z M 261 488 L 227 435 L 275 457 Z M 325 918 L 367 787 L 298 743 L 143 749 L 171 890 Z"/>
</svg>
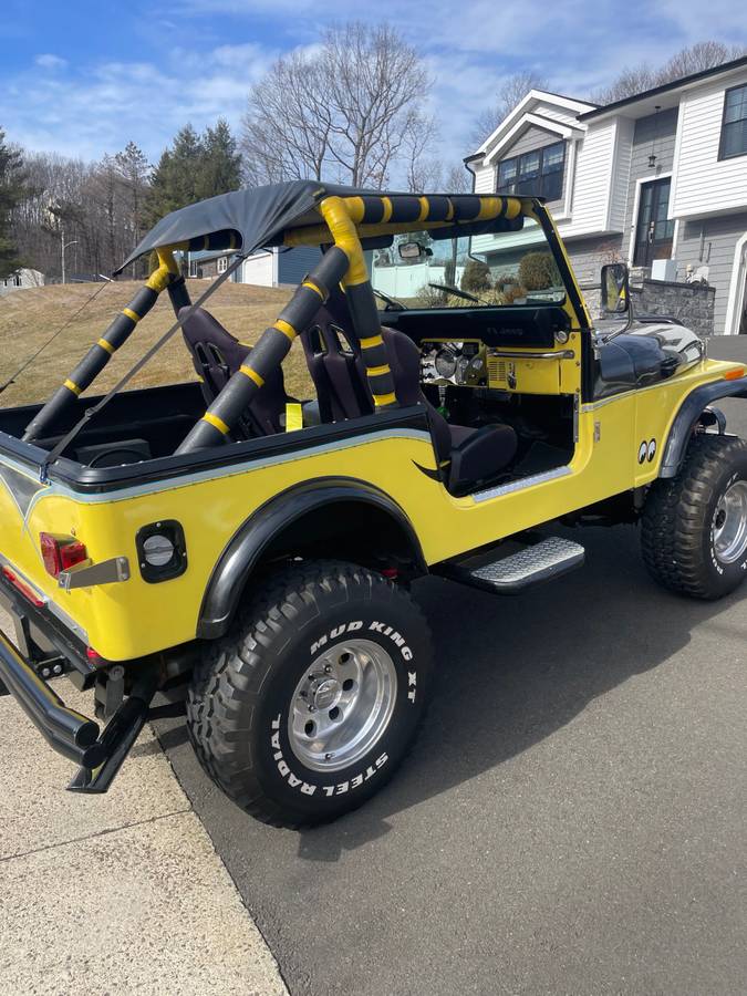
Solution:
<svg viewBox="0 0 747 996">
<path fill-rule="evenodd" d="M 517 70 L 585 96 L 701 39 L 747 41 L 740 0 L 4 0 L 0 126 L 34 149 L 97 158 L 132 139 L 156 159 L 187 121 L 222 114 L 238 131 L 268 65 L 351 15 L 390 21 L 423 53 L 447 164 L 471 152 L 475 116 Z"/>
</svg>

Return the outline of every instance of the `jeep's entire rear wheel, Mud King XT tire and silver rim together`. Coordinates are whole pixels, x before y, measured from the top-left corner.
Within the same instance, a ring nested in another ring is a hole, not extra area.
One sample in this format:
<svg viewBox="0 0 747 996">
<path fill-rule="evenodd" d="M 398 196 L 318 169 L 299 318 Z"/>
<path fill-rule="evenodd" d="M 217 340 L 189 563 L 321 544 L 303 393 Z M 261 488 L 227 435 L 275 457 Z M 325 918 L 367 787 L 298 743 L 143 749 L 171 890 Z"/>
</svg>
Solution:
<svg viewBox="0 0 747 996">
<path fill-rule="evenodd" d="M 406 592 L 355 564 L 292 567 L 208 649 L 189 693 L 190 738 L 247 812 L 324 822 L 392 776 L 429 676 L 428 627 Z"/>
</svg>

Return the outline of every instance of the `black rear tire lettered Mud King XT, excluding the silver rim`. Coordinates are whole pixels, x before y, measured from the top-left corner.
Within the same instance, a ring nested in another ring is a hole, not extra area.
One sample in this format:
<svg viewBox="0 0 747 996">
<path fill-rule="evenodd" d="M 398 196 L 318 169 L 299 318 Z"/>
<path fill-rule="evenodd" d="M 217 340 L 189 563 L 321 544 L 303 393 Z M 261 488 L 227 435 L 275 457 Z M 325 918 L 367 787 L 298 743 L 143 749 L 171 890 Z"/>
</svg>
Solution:
<svg viewBox="0 0 747 996">
<path fill-rule="evenodd" d="M 394 666 L 391 717 L 350 767 L 312 770 L 291 746 L 291 699 L 320 652 L 356 634 L 384 647 Z M 427 623 L 400 585 L 352 563 L 292 566 L 206 645 L 187 701 L 189 736 L 210 778 L 251 816 L 289 828 L 326 822 L 378 791 L 406 756 L 430 671 Z"/>
</svg>

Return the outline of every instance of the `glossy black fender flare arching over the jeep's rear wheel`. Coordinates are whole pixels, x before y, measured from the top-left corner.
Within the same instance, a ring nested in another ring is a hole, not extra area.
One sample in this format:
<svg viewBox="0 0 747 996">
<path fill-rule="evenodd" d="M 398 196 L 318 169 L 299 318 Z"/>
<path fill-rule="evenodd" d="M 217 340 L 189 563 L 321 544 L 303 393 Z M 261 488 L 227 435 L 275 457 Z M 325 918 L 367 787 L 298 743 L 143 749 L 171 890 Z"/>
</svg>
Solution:
<svg viewBox="0 0 747 996">
<path fill-rule="evenodd" d="M 284 529 L 308 512 L 340 501 L 362 502 L 391 516 L 406 537 L 417 568 L 427 573 L 413 523 L 384 491 L 351 478 L 325 478 L 295 485 L 260 506 L 230 539 L 210 574 L 197 621 L 197 636 L 215 640 L 228 630 L 252 570 Z"/>
</svg>

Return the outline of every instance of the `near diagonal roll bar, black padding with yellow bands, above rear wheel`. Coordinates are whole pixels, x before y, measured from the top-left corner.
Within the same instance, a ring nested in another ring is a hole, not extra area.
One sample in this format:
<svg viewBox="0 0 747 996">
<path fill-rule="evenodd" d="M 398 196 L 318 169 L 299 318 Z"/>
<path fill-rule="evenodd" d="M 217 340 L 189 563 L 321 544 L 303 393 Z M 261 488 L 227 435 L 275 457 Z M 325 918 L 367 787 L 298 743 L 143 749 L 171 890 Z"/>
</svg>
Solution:
<svg viewBox="0 0 747 996">
<path fill-rule="evenodd" d="M 297 288 L 277 322 L 262 332 L 243 364 L 190 429 L 176 450 L 178 454 L 193 453 L 228 440 L 241 413 L 251 404 L 268 376 L 286 359 L 295 336 L 309 328 L 320 305 L 329 298 L 329 288 L 340 283 L 347 267 L 349 259 L 343 249 L 333 246 L 324 253 L 313 271 Z"/>
</svg>

